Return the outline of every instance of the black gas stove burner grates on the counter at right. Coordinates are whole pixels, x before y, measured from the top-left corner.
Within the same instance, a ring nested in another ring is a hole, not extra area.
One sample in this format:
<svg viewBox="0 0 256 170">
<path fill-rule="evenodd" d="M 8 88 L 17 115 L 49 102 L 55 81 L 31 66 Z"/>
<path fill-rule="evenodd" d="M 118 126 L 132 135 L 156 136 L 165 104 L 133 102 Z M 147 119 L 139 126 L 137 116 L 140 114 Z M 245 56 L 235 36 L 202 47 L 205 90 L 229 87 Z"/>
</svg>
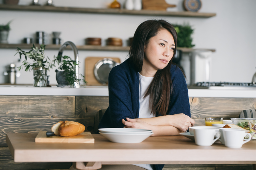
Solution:
<svg viewBox="0 0 256 170">
<path fill-rule="evenodd" d="M 256 87 L 255 83 L 228 83 L 228 82 L 198 82 L 196 86 L 210 87 L 210 86 L 222 86 L 222 87 Z"/>
</svg>

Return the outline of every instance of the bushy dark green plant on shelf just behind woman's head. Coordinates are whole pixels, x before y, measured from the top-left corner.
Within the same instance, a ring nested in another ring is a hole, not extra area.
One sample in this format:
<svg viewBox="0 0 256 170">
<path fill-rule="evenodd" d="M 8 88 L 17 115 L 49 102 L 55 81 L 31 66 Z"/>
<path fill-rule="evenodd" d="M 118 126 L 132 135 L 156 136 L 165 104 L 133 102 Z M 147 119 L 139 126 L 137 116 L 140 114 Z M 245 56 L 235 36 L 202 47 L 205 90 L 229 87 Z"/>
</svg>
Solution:
<svg viewBox="0 0 256 170">
<path fill-rule="evenodd" d="M 175 28 L 178 36 L 177 47 L 192 48 L 195 46 L 192 44 L 193 38 L 191 37 L 194 30 L 189 24 L 173 24 L 173 27 Z"/>
</svg>

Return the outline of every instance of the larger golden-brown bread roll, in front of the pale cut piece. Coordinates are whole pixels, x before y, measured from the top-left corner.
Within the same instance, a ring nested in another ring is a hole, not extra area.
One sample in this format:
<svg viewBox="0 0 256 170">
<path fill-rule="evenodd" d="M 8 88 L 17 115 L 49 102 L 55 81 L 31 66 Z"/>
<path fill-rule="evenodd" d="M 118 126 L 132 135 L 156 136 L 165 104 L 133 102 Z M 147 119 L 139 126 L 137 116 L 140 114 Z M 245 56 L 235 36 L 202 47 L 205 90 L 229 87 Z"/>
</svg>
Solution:
<svg viewBox="0 0 256 170">
<path fill-rule="evenodd" d="M 58 133 L 60 136 L 75 136 L 84 132 L 85 126 L 78 122 L 65 121 L 60 124 Z"/>
</svg>

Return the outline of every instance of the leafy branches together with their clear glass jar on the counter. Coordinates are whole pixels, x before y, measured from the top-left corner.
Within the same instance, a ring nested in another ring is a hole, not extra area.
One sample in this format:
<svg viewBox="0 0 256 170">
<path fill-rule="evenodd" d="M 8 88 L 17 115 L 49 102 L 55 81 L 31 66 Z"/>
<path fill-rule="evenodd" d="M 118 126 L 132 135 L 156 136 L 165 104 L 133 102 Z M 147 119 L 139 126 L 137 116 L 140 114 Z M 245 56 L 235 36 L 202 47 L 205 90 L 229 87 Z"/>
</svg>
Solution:
<svg viewBox="0 0 256 170">
<path fill-rule="evenodd" d="M 45 56 L 44 49 L 45 49 L 45 45 L 41 45 L 40 48 L 38 49 L 38 47 L 35 47 L 33 44 L 33 47 L 31 47 L 31 50 L 29 52 L 25 52 L 18 47 L 16 50 L 17 53 L 19 53 L 20 59 L 22 58 L 22 55 L 25 56 L 23 65 L 17 68 L 20 70 L 21 68 L 24 67 L 25 71 L 33 70 L 34 87 L 46 87 L 47 70 L 49 68 L 53 68 L 54 66 L 54 64 L 51 63 L 49 57 Z M 33 63 L 29 63 L 28 58 L 32 60 Z"/>
</svg>

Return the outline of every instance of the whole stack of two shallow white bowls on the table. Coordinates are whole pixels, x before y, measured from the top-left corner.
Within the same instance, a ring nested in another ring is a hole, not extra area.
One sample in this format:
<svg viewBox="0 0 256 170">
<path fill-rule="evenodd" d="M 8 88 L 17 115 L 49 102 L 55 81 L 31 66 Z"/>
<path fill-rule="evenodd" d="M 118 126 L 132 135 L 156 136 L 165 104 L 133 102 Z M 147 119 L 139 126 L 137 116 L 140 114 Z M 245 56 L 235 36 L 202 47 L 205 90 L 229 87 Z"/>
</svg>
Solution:
<svg viewBox="0 0 256 170">
<path fill-rule="evenodd" d="M 130 128 L 102 128 L 99 133 L 116 143 L 140 143 L 153 134 L 151 130 Z"/>
</svg>

